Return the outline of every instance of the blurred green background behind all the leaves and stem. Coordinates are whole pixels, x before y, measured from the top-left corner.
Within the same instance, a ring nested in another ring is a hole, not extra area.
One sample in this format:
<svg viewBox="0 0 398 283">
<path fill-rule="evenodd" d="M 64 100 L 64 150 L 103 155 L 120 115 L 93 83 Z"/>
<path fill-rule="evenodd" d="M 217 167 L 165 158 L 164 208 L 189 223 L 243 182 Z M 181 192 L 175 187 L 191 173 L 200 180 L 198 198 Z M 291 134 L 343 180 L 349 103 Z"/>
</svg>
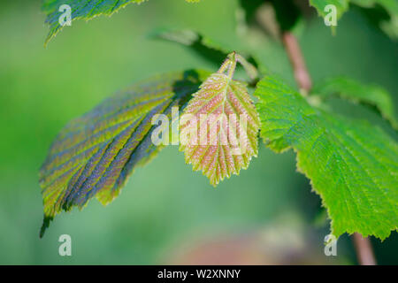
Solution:
<svg viewBox="0 0 398 283">
<path fill-rule="evenodd" d="M 276 155 L 264 144 L 247 171 L 217 188 L 192 172 L 171 146 L 136 170 L 113 203 L 103 208 L 93 200 L 83 211 L 62 213 L 40 240 L 37 173 L 67 121 L 154 73 L 217 68 L 191 50 L 149 34 L 158 27 L 189 28 L 236 50 L 242 41 L 236 33 L 235 0 L 151 0 L 130 4 L 111 19 L 73 21 L 45 49 L 48 27 L 40 6 L 40 1 L 0 2 L 0 264 L 186 263 L 183 254 L 207 241 L 203 239 L 218 238 L 222 244 L 246 234 L 277 234 L 260 236 L 262 243 L 254 249 L 272 257 L 275 238 L 281 247 L 295 249 L 295 240 L 285 237 L 292 233 L 301 235 L 305 248 L 300 250 L 310 255 L 310 263 L 356 264 L 347 235 L 339 240 L 338 256 L 324 256 L 329 224 L 317 221 L 322 219 L 318 195 L 295 172 L 291 151 Z M 387 88 L 397 104 L 398 44 L 356 9 L 344 15 L 335 36 L 315 17 L 299 40 L 315 82 L 349 75 Z M 265 36 L 245 42 L 264 65 L 295 85 L 279 42 Z M 275 233 L 280 224 L 287 233 Z M 57 239 L 63 233 L 72 236 L 73 256 L 58 255 Z M 383 243 L 372 242 L 380 264 L 398 264 L 397 233 Z"/>
</svg>

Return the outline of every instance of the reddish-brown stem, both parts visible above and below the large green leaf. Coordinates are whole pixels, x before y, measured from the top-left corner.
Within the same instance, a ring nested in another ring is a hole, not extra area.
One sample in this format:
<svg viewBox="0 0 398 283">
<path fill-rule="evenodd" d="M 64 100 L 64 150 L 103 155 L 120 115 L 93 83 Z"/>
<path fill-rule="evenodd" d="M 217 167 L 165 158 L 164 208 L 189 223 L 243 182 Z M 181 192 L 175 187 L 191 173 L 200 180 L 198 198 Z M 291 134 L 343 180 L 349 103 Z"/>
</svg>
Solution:
<svg viewBox="0 0 398 283">
<path fill-rule="evenodd" d="M 312 86 L 310 79 L 310 73 L 308 73 L 307 67 L 305 65 L 304 58 L 302 57 L 302 50 L 300 45 L 295 38 L 295 34 L 290 32 L 282 33 L 282 42 L 287 50 L 287 55 L 290 58 L 290 63 L 293 66 L 295 72 L 295 80 L 299 87 L 308 93 Z M 359 233 L 354 233 L 352 235 L 354 241 L 354 246 L 356 248 L 356 256 L 358 262 L 361 265 L 376 265 L 376 259 L 371 249 L 371 241 L 369 238 L 364 238 Z"/>
</svg>

